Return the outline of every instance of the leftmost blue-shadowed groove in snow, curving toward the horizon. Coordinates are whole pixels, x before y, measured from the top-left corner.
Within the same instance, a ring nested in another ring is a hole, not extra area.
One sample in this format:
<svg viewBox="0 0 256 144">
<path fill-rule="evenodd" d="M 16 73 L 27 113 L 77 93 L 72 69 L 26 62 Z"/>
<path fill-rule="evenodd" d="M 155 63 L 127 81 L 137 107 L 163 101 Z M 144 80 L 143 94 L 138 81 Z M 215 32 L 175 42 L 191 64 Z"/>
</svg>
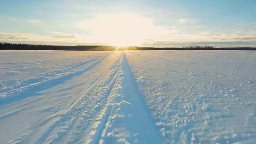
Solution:
<svg viewBox="0 0 256 144">
<path fill-rule="evenodd" d="M 69 79 L 71 79 L 75 76 L 81 75 L 84 72 L 87 72 L 91 68 L 95 67 L 97 64 L 101 63 L 101 61 L 104 60 L 110 54 L 111 53 L 106 54 L 101 59 L 96 60 L 96 62 L 92 61 L 92 62 L 86 63 L 85 65 L 92 63 L 88 67 L 78 68 L 78 69 L 75 69 L 75 70 L 72 70 L 72 71 L 69 71 L 69 72 L 57 73 L 53 76 L 47 77 L 45 80 L 37 81 L 35 83 L 29 83 L 29 84 L 27 84 L 23 87 L 13 89 L 13 90 L 9 90 L 9 91 L 4 92 L 4 93 L 0 93 L 0 95 L 4 95 L 4 97 L 0 97 L 0 106 L 16 102 L 20 99 L 25 99 L 29 96 L 32 96 L 33 94 L 35 94 L 38 91 L 42 91 L 42 90 L 46 90 L 48 88 L 52 88 L 52 87 L 54 87 L 58 84 L 61 84 L 64 81 L 67 81 L 67 80 L 69 80 Z M 93 62 L 95 62 L 95 63 L 93 63 Z"/>
</svg>

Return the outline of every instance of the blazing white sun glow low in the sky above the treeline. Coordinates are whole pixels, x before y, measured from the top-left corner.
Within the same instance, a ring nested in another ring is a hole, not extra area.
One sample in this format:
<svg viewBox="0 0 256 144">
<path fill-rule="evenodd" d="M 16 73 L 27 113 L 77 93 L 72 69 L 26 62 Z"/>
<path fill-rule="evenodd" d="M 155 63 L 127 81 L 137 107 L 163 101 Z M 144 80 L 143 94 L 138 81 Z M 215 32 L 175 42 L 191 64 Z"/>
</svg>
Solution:
<svg viewBox="0 0 256 144">
<path fill-rule="evenodd" d="M 151 19 L 133 14 L 101 15 L 84 26 L 91 32 L 90 41 L 115 46 L 138 46 L 163 31 Z"/>
</svg>

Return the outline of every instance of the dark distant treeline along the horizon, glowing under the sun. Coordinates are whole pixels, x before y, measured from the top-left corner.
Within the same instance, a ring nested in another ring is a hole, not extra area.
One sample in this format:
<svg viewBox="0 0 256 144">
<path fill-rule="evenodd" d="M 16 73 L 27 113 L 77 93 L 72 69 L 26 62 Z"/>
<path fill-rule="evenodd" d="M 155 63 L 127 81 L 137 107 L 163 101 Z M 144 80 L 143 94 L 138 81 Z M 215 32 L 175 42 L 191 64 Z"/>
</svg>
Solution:
<svg viewBox="0 0 256 144">
<path fill-rule="evenodd" d="M 114 50 L 256 50 L 250 47 L 228 47 L 214 48 L 210 45 L 205 46 L 186 46 L 186 47 L 139 47 L 139 46 L 103 46 L 103 45 L 28 45 L 0 43 L 0 50 L 65 50 L 65 51 L 114 51 Z"/>
</svg>

